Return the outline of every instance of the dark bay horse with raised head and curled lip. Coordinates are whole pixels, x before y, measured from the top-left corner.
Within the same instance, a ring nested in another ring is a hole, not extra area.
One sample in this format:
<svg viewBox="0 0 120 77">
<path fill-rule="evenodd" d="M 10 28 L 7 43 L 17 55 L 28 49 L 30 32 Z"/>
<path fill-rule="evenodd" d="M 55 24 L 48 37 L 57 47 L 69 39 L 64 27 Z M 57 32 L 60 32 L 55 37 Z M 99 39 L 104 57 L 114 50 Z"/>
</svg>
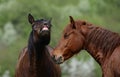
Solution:
<svg viewBox="0 0 120 77">
<path fill-rule="evenodd" d="M 53 62 L 47 46 L 50 42 L 51 20 L 34 20 L 31 14 L 28 20 L 32 24 L 28 46 L 19 56 L 15 77 L 61 77 L 60 67 Z"/>
</svg>

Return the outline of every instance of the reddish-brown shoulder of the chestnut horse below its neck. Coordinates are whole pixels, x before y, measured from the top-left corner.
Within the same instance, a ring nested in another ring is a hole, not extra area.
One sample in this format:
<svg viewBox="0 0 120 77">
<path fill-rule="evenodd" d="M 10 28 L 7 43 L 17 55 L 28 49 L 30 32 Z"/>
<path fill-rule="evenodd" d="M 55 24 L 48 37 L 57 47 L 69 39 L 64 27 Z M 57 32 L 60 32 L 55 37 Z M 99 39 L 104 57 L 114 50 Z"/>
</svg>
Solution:
<svg viewBox="0 0 120 77">
<path fill-rule="evenodd" d="M 104 62 L 102 70 L 107 77 L 120 77 L 120 46 L 117 47 L 110 58 Z"/>
</svg>

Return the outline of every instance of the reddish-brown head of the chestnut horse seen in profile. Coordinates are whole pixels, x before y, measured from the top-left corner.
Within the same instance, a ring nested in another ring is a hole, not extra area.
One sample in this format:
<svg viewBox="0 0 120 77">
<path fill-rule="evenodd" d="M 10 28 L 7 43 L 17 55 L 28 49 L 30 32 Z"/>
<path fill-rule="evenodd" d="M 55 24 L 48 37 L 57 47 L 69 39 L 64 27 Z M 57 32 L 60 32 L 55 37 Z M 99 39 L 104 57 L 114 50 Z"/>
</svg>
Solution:
<svg viewBox="0 0 120 77">
<path fill-rule="evenodd" d="M 74 21 L 70 16 L 70 24 L 66 26 L 57 47 L 52 52 L 52 58 L 57 63 L 63 63 L 83 49 L 87 26 L 85 21 Z"/>
</svg>

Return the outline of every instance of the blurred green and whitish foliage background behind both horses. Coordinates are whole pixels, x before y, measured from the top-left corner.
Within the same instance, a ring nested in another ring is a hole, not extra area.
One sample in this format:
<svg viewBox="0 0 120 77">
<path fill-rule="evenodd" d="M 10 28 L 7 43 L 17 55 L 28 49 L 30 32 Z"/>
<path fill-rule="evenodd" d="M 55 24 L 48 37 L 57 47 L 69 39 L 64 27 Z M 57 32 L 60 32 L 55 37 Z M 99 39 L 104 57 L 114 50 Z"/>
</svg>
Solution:
<svg viewBox="0 0 120 77">
<path fill-rule="evenodd" d="M 0 77 L 14 77 L 19 53 L 27 45 L 31 31 L 28 13 L 35 19 L 52 17 L 52 47 L 70 15 L 120 33 L 120 0 L 0 0 Z M 99 65 L 84 51 L 61 67 L 62 77 L 102 75 Z"/>
</svg>

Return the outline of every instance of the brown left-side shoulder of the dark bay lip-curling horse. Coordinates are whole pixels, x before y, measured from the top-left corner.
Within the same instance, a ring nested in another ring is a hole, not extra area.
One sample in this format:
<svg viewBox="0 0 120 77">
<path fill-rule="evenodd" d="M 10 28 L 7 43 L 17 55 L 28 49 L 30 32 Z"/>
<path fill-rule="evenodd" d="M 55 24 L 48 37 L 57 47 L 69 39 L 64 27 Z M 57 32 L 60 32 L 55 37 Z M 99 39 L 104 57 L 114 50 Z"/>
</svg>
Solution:
<svg viewBox="0 0 120 77">
<path fill-rule="evenodd" d="M 15 77 L 27 77 L 29 72 L 28 48 L 25 47 L 19 55 Z"/>
</svg>

